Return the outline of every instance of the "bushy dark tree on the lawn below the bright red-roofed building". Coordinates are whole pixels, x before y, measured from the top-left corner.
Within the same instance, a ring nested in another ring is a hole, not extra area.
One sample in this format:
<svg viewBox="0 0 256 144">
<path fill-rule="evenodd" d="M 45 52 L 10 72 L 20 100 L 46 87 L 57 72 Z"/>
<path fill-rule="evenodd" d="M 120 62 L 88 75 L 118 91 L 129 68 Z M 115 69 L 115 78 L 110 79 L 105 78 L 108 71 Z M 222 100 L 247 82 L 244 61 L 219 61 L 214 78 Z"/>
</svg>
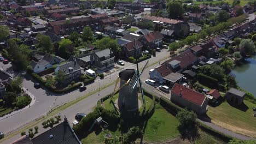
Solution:
<svg viewBox="0 0 256 144">
<path fill-rule="evenodd" d="M 195 136 L 197 134 L 195 112 L 182 109 L 177 113 L 176 117 L 178 118 L 179 122 L 178 129 L 182 136 Z"/>
</svg>

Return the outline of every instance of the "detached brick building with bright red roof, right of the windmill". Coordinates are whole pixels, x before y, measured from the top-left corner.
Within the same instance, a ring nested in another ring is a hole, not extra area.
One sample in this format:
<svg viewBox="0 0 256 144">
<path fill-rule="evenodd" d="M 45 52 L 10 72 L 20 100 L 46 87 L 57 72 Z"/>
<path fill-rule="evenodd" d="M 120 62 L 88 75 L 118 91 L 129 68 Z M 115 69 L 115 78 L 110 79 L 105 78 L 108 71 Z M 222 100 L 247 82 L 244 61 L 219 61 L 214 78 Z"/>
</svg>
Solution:
<svg viewBox="0 0 256 144">
<path fill-rule="evenodd" d="M 171 90 L 171 101 L 181 107 L 187 107 L 198 115 L 206 113 L 208 99 L 205 95 L 175 83 Z"/>
</svg>

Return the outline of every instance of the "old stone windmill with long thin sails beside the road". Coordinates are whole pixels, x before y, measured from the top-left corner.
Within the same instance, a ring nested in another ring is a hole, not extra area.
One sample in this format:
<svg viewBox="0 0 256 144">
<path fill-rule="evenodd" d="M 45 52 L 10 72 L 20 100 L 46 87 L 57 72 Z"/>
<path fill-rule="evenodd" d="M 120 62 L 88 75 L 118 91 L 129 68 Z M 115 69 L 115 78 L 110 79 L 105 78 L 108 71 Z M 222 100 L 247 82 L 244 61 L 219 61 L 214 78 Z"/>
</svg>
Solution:
<svg viewBox="0 0 256 144">
<path fill-rule="evenodd" d="M 134 47 L 136 47 L 134 45 Z M 145 109 L 145 99 L 143 93 L 143 87 L 141 83 L 141 74 L 138 69 L 138 62 L 135 50 L 136 65 L 137 69 L 126 69 L 119 73 L 120 78 L 120 88 L 119 88 L 119 97 L 118 97 L 118 107 L 121 113 L 136 113 L 138 112 L 138 87 L 142 94 L 143 106 Z M 148 61 L 144 65 L 141 73 L 146 68 Z"/>
</svg>

